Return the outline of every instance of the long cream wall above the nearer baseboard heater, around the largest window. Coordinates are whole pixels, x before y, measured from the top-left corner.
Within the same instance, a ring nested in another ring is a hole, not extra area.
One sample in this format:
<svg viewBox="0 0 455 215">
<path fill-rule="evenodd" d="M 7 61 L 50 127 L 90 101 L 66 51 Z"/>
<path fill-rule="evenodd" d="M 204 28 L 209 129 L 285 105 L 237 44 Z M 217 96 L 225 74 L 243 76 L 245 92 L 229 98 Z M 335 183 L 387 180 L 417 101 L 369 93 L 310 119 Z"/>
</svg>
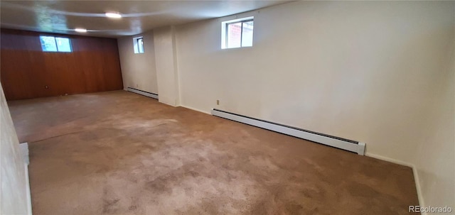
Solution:
<svg viewBox="0 0 455 215">
<path fill-rule="evenodd" d="M 410 164 L 449 63 L 454 4 L 298 1 L 177 26 L 181 105 L 359 140 Z M 221 50 L 220 23 L 244 16 L 255 16 L 253 47 Z"/>
</svg>

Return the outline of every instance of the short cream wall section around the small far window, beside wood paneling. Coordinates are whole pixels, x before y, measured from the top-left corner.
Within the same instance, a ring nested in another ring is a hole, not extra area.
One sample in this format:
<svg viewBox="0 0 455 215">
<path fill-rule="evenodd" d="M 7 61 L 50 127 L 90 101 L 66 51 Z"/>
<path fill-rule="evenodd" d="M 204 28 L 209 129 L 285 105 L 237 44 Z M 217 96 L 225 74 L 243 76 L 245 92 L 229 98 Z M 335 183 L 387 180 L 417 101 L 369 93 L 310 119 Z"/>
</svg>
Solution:
<svg viewBox="0 0 455 215">
<path fill-rule="evenodd" d="M 133 38 L 139 36 L 142 36 L 144 39 L 144 53 L 135 54 Z M 145 92 L 158 94 L 153 31 L 118 38 L 117 43 L 119 46 L 124 89 L 132 87 Z"/>
</svg>

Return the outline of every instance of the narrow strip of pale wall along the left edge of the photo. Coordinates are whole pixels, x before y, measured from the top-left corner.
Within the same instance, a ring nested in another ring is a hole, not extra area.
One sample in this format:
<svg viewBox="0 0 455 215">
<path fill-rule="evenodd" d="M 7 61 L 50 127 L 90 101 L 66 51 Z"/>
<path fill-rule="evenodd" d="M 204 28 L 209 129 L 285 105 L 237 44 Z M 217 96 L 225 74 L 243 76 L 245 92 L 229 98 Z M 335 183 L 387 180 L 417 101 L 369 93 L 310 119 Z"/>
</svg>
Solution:
<svg viewBox="0 0 455 215">
<path fill-rule="evenodd" d="M 26 162 L 0 84 L 0 214 L 28 214 Z"/>
</svg>

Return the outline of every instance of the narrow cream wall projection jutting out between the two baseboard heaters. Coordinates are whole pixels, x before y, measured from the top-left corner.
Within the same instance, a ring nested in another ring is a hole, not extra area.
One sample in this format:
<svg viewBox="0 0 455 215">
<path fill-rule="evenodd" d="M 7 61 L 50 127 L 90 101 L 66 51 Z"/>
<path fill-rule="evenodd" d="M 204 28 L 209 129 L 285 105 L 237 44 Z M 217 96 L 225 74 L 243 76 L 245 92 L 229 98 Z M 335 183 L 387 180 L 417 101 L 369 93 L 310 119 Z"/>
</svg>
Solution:
<svg viewBox="0 0 455 215">
<path fill-rule="evenodd" d="M 180 104 L 176 31 L 173 26 L 154 30 L 156 77 L 159 101 L 171 106 Z"/>
</svg>

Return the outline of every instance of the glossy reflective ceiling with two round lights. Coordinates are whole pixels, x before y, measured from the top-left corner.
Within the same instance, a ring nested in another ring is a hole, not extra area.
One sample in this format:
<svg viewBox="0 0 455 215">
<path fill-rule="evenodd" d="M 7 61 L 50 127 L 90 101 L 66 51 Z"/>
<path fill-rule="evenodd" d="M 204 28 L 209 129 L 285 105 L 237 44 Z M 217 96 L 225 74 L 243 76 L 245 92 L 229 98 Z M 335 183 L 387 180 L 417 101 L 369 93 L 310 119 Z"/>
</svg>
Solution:
<svg viewBox="0 0 455 215">
<path fill-rule="evenodd" d="M 288 1 L 0 1 L 2 28 L 119 37 L 206 18 L 229 16 Z M 106 18 L 116 11 L 123 18 Z"/>
</svg>

